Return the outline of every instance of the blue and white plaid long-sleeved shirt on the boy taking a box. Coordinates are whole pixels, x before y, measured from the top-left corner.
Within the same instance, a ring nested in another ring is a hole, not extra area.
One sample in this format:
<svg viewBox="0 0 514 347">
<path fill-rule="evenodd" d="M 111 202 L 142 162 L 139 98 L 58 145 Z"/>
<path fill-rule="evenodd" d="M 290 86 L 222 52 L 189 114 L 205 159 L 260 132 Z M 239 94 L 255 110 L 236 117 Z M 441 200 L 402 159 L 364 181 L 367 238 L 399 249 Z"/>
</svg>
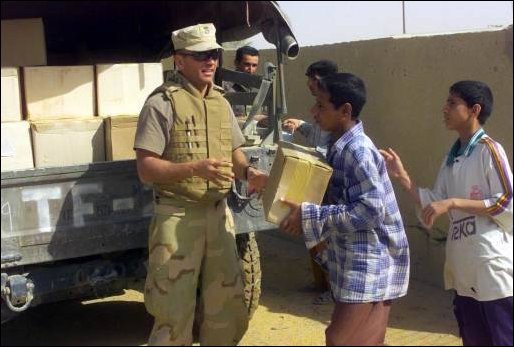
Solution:
<svg viewBox="0 0 514 347">
<path fill-rule="evenodd" d="M 302 204 L 308 248 L 328 244 L 330 285 L 338 302 L 395 299 L 407 293 L 409 246 L 384 160 L 362 123 L 328 153 L 334 172 L 322 206 Z"/>
</svg>

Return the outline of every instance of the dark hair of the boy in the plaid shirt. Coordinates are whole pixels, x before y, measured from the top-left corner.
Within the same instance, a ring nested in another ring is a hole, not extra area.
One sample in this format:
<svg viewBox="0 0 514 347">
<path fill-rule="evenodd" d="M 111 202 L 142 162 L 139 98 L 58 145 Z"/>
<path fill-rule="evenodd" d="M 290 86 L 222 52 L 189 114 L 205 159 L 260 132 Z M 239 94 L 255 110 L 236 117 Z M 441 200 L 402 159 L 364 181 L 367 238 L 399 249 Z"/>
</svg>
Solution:
<svg viewBox="0 0 514 347">
<path fill-rule="evenodd" d="M 343 104 L 352 105 L 352 119 L 359 114 L 366 103 L 366 86 L 364 81 L 351 73 L 336 73 L 323 77 L 319 88 L 330 95 L 330 103 L 335 109 Z"/>
</svg>

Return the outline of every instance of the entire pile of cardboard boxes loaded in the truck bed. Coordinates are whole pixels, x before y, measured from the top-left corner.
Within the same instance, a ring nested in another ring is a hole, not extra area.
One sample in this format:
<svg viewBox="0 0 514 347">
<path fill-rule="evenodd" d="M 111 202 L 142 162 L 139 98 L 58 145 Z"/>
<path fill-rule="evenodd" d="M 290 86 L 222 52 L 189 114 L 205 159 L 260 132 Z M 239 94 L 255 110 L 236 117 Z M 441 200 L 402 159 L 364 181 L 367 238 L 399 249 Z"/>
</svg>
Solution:
<svg viewBox="0 0 514 347">
<path fill-rule="evenodd" d="M 41 19 L 2 21 L 2 171 L 135 158 L 161 64 L 44 66 L 44 42 Z"/>
</svg>

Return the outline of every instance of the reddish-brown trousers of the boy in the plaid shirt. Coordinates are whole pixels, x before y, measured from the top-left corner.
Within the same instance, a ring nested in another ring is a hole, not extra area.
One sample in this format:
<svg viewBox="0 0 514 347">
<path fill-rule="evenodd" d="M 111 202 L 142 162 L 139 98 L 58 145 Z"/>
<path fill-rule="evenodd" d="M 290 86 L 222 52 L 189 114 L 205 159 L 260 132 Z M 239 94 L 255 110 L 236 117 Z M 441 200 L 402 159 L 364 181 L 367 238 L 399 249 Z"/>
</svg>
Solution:
<svg viewBox="0 0 514 347">
<path fill-rule="evenodd" d="M 327 346 L 382 346 L 391 301 L 366 304 L 337 302 L 325 330 Z"/>
</svg>

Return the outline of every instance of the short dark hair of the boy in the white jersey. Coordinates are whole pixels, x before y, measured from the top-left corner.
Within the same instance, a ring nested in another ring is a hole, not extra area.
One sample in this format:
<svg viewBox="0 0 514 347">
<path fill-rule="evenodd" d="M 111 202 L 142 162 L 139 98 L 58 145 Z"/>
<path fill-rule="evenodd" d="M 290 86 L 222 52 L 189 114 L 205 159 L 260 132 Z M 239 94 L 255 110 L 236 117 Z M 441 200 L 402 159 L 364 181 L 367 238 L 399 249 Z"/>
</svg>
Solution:
<svg viewBox="0 0 514 347">
<path fill-rule="evenodd" d="M 464 100 L 468 107 L 479 104 L 482 110 L 478 115 L 478 122 L 483 125 L 493 111 L 493 93 L 484 82 L 459 81 L 450 87 L 450 94 Z"/>
</svg>

